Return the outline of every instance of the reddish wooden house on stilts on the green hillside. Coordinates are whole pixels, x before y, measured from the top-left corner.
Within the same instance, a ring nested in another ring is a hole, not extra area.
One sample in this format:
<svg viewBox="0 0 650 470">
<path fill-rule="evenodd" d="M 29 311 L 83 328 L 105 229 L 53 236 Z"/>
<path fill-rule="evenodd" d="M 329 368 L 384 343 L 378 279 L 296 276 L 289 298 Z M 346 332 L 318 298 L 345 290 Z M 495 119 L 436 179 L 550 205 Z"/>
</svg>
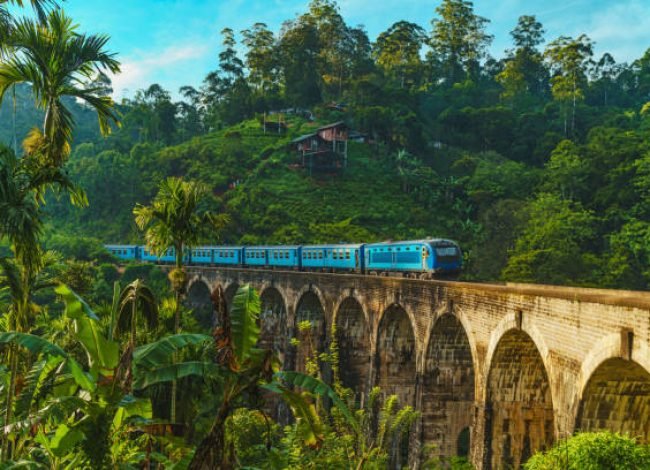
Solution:
<svg viewBox="0 0 650 470">
<path fill-rule="evenodd" d="M 349 128 L 343 122 L 334 122 L 291 141 L 291 147 L 302 158 L 302 166 L 312 171 L 331 171 L 345 168 L 348 162 Z"/>
</svg>

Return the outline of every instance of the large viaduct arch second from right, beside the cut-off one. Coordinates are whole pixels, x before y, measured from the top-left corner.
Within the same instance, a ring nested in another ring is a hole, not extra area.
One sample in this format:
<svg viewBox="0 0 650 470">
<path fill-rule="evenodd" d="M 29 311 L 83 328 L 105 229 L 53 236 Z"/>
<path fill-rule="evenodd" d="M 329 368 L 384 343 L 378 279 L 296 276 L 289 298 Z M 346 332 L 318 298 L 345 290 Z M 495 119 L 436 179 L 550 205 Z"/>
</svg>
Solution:
<svg viewBox="0 0 650 470">
<path fill-rule="evenodd" d="M 543 353 L 521 328 L 503 333 L 488 362 L 486 460 L 489 468 L 519 468 L 555 440 L 552 389 Z"/>
</svg>

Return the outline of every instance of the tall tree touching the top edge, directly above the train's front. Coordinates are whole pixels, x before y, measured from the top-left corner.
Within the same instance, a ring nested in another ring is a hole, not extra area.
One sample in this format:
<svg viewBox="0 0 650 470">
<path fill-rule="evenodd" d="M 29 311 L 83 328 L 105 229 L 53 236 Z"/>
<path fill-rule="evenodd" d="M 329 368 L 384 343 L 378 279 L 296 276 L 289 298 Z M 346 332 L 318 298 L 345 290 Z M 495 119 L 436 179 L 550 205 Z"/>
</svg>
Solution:
<svg viewBox="0 0 650 470">
<path fill-rule="evenodd" d="M 432 58 L 442 64 L 447 83 L 476 79 L 480 60 L 492 42 L 485 32 L 489 20 L 476 15 L 467 0 L 443 0 L 436 13 L 440 19 L 431 22 Z"/>
</svg>

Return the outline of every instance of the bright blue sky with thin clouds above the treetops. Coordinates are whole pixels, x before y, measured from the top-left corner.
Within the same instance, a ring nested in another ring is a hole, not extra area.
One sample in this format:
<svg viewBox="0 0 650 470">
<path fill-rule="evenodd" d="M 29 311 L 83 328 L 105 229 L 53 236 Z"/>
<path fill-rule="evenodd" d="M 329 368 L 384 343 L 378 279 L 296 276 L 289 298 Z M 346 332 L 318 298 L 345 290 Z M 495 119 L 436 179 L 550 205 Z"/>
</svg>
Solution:
<svg viewBox="0 0 650 470">
<path fill-rule="evenodd" d="M 284 20 L 306 11 L 308 0 L 66 0 L 66 12 L 82 31 L 111 36 L 122 73 L 113 78 L 116 98 L 159 83 L 176 95 L 183 85 L 199 87 L 217 66 L 224 27 L 240 31 L 255 22 L 277 32 Z M 440 0 L 339 0 L 348 25 L 364 25 L 371 40 L 399 20 L 430 30 Z M 586 33 L 596 56 L 610 52 L 631 62 L 650 47 L 650 0 L 474 0 L 490 20 L 491 53 L 510 47 L 517 18 L 536 15 L 548 41 Z"/>
</svg>

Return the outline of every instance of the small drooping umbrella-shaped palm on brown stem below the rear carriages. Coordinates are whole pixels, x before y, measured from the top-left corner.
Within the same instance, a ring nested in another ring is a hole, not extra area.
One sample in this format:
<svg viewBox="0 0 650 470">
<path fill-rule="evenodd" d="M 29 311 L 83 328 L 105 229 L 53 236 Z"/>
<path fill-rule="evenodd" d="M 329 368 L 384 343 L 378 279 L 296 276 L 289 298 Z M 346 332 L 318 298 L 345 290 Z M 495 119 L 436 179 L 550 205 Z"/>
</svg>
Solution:
<svg viewBox="0 0 650 470">
<path fill-rule="evenodd" d="M 125 383 L 129 391 L 133 390 L 130 363 L 133 360 L 133 351 L 136 346 L 138 313 L 143 318 L 149 330 L 153 330 L 158 326 L 158 304 L 156 303 L 156 296 L 140 279 L 136 279 L 122 290 L 116 312 L 115 328 L 113 330 L 115 337 L 130 332 L 129 342 L 122 356 L 122 363 L 125 364 L 123 370 L 129 372 L 128 376 L 125 377 Z"/>
</svg>

